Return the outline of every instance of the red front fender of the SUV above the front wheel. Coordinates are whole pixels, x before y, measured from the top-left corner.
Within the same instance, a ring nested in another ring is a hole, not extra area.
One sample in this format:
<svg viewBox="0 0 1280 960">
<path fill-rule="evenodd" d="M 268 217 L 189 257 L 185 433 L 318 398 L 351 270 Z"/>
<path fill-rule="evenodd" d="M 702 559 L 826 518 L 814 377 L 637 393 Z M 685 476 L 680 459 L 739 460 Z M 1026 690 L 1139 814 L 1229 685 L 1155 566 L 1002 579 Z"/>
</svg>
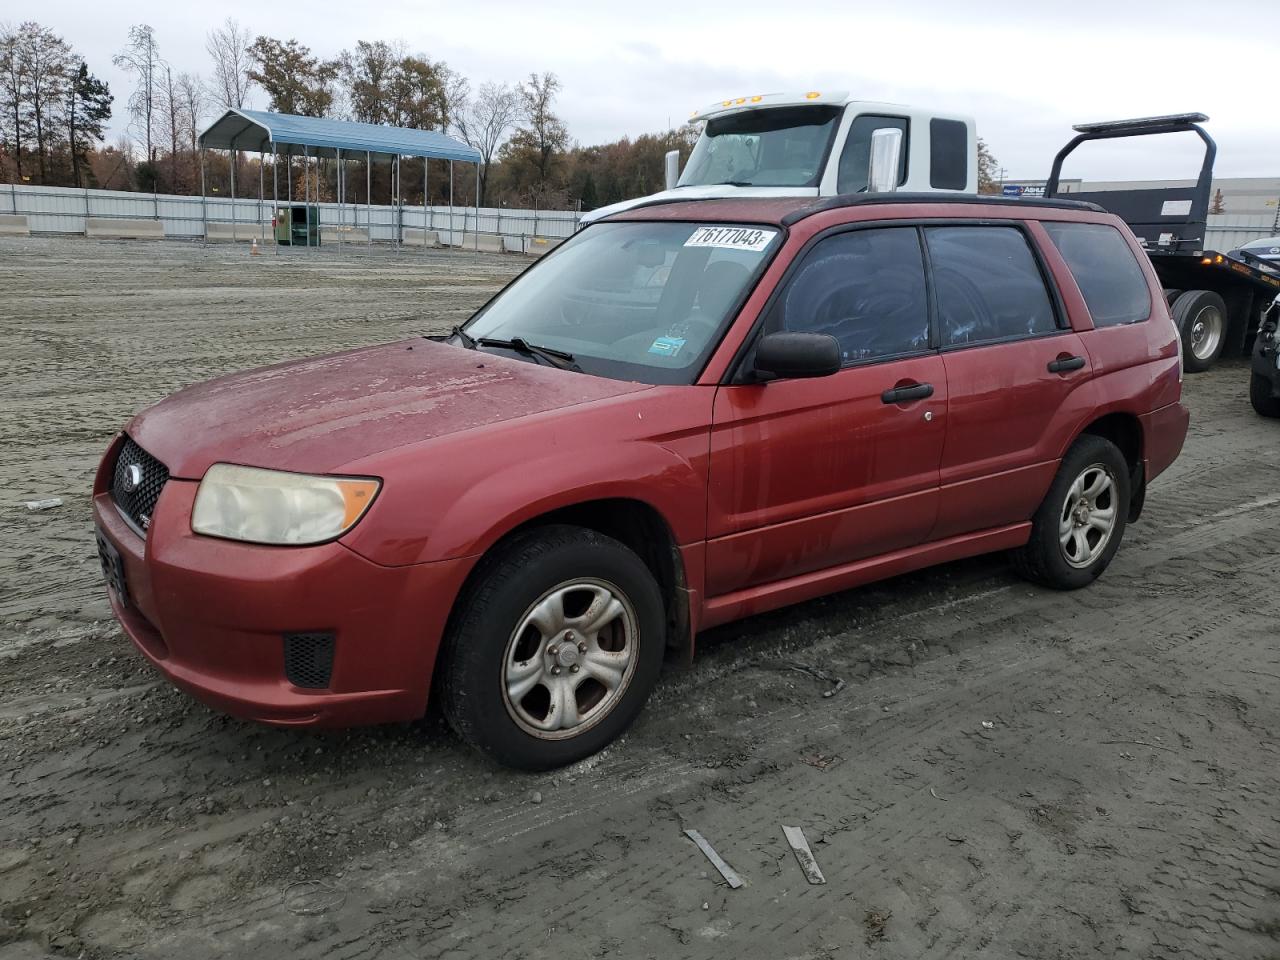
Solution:
<svg viewBox="0 0 1280 960">
<path fill-rule="evenodd" d="M 653 507 L 677 544 L 700 541 L 713 393 L 654 392 L 608 416 L 584 411 L 397 451 L 357 471 L 384 486 L 343 543 L 387 566 L 474 557 L 538 516 L 613 498 Z"/>
</svg>

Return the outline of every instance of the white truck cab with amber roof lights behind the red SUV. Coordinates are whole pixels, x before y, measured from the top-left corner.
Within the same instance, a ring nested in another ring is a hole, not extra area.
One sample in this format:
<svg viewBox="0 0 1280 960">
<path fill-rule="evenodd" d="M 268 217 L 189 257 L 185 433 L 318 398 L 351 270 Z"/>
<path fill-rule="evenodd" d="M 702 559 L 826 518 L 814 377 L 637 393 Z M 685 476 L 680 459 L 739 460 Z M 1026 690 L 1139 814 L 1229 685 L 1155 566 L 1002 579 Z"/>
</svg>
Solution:
<svg viewBox="0 0 1280 960">
<path fill-rule="evenodd" d="M 701 136 L 684 173 L 668 154 L 666 191 L 593 210 L 584 223 L 667 200 L 978 191 L 969 116 L 809 91 L 722 100 L 690 122 Z"/>
</svg>

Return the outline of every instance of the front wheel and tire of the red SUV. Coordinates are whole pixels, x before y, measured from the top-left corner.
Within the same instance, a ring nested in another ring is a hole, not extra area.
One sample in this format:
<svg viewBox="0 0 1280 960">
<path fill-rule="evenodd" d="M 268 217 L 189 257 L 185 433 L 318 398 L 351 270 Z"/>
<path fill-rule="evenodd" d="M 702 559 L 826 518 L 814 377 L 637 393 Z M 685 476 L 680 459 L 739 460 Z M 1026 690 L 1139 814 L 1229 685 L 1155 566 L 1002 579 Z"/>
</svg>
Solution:
<svg viewBox="0 0 1280 960">
<path fill-rule="evenodd" d="M 451 618 L 444 716 L 499 763 L 562 767 L 631 726 L 664 646 L 662 591 L 635 553 L 593 530 L 536 527 L 481 561 Z"/>
</svg>

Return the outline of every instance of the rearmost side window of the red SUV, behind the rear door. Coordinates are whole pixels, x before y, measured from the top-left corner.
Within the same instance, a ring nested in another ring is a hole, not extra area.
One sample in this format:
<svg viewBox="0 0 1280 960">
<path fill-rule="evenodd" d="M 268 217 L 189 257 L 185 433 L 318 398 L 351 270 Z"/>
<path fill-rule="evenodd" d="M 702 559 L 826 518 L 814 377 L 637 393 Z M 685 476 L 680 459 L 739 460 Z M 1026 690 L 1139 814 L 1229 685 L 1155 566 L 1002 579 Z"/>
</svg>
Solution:
<svg viewBox="0 0 1280 960">
<path fill-rule="evenodd" d="M 1151 291 L 1120 230 L 1102 223 L 1042 224 L 1071 269 L 1094 326 L 1135 324 L 1151 316 Z"/>
</svg>

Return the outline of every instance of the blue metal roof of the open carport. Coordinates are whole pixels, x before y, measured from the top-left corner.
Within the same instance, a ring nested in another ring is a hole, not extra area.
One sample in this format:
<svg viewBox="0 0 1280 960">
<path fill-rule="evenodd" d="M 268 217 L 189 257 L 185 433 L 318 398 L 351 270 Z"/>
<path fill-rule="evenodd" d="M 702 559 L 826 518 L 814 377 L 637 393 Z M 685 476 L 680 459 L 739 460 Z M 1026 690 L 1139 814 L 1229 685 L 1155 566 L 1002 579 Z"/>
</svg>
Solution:
<svg viewBox="0 0 1280 960">
<path fill-rule="evenodd" d="M 376 123 L 330 120 L 324 116 L 228 110 L 200 134 L 200 146 L 214 150 L 266 151 L 271 145 L 307 147 L 311 156 L 385 154 L 480 161 L 480 151 L 435 131 L 383 127 Z"/>
</svg>

